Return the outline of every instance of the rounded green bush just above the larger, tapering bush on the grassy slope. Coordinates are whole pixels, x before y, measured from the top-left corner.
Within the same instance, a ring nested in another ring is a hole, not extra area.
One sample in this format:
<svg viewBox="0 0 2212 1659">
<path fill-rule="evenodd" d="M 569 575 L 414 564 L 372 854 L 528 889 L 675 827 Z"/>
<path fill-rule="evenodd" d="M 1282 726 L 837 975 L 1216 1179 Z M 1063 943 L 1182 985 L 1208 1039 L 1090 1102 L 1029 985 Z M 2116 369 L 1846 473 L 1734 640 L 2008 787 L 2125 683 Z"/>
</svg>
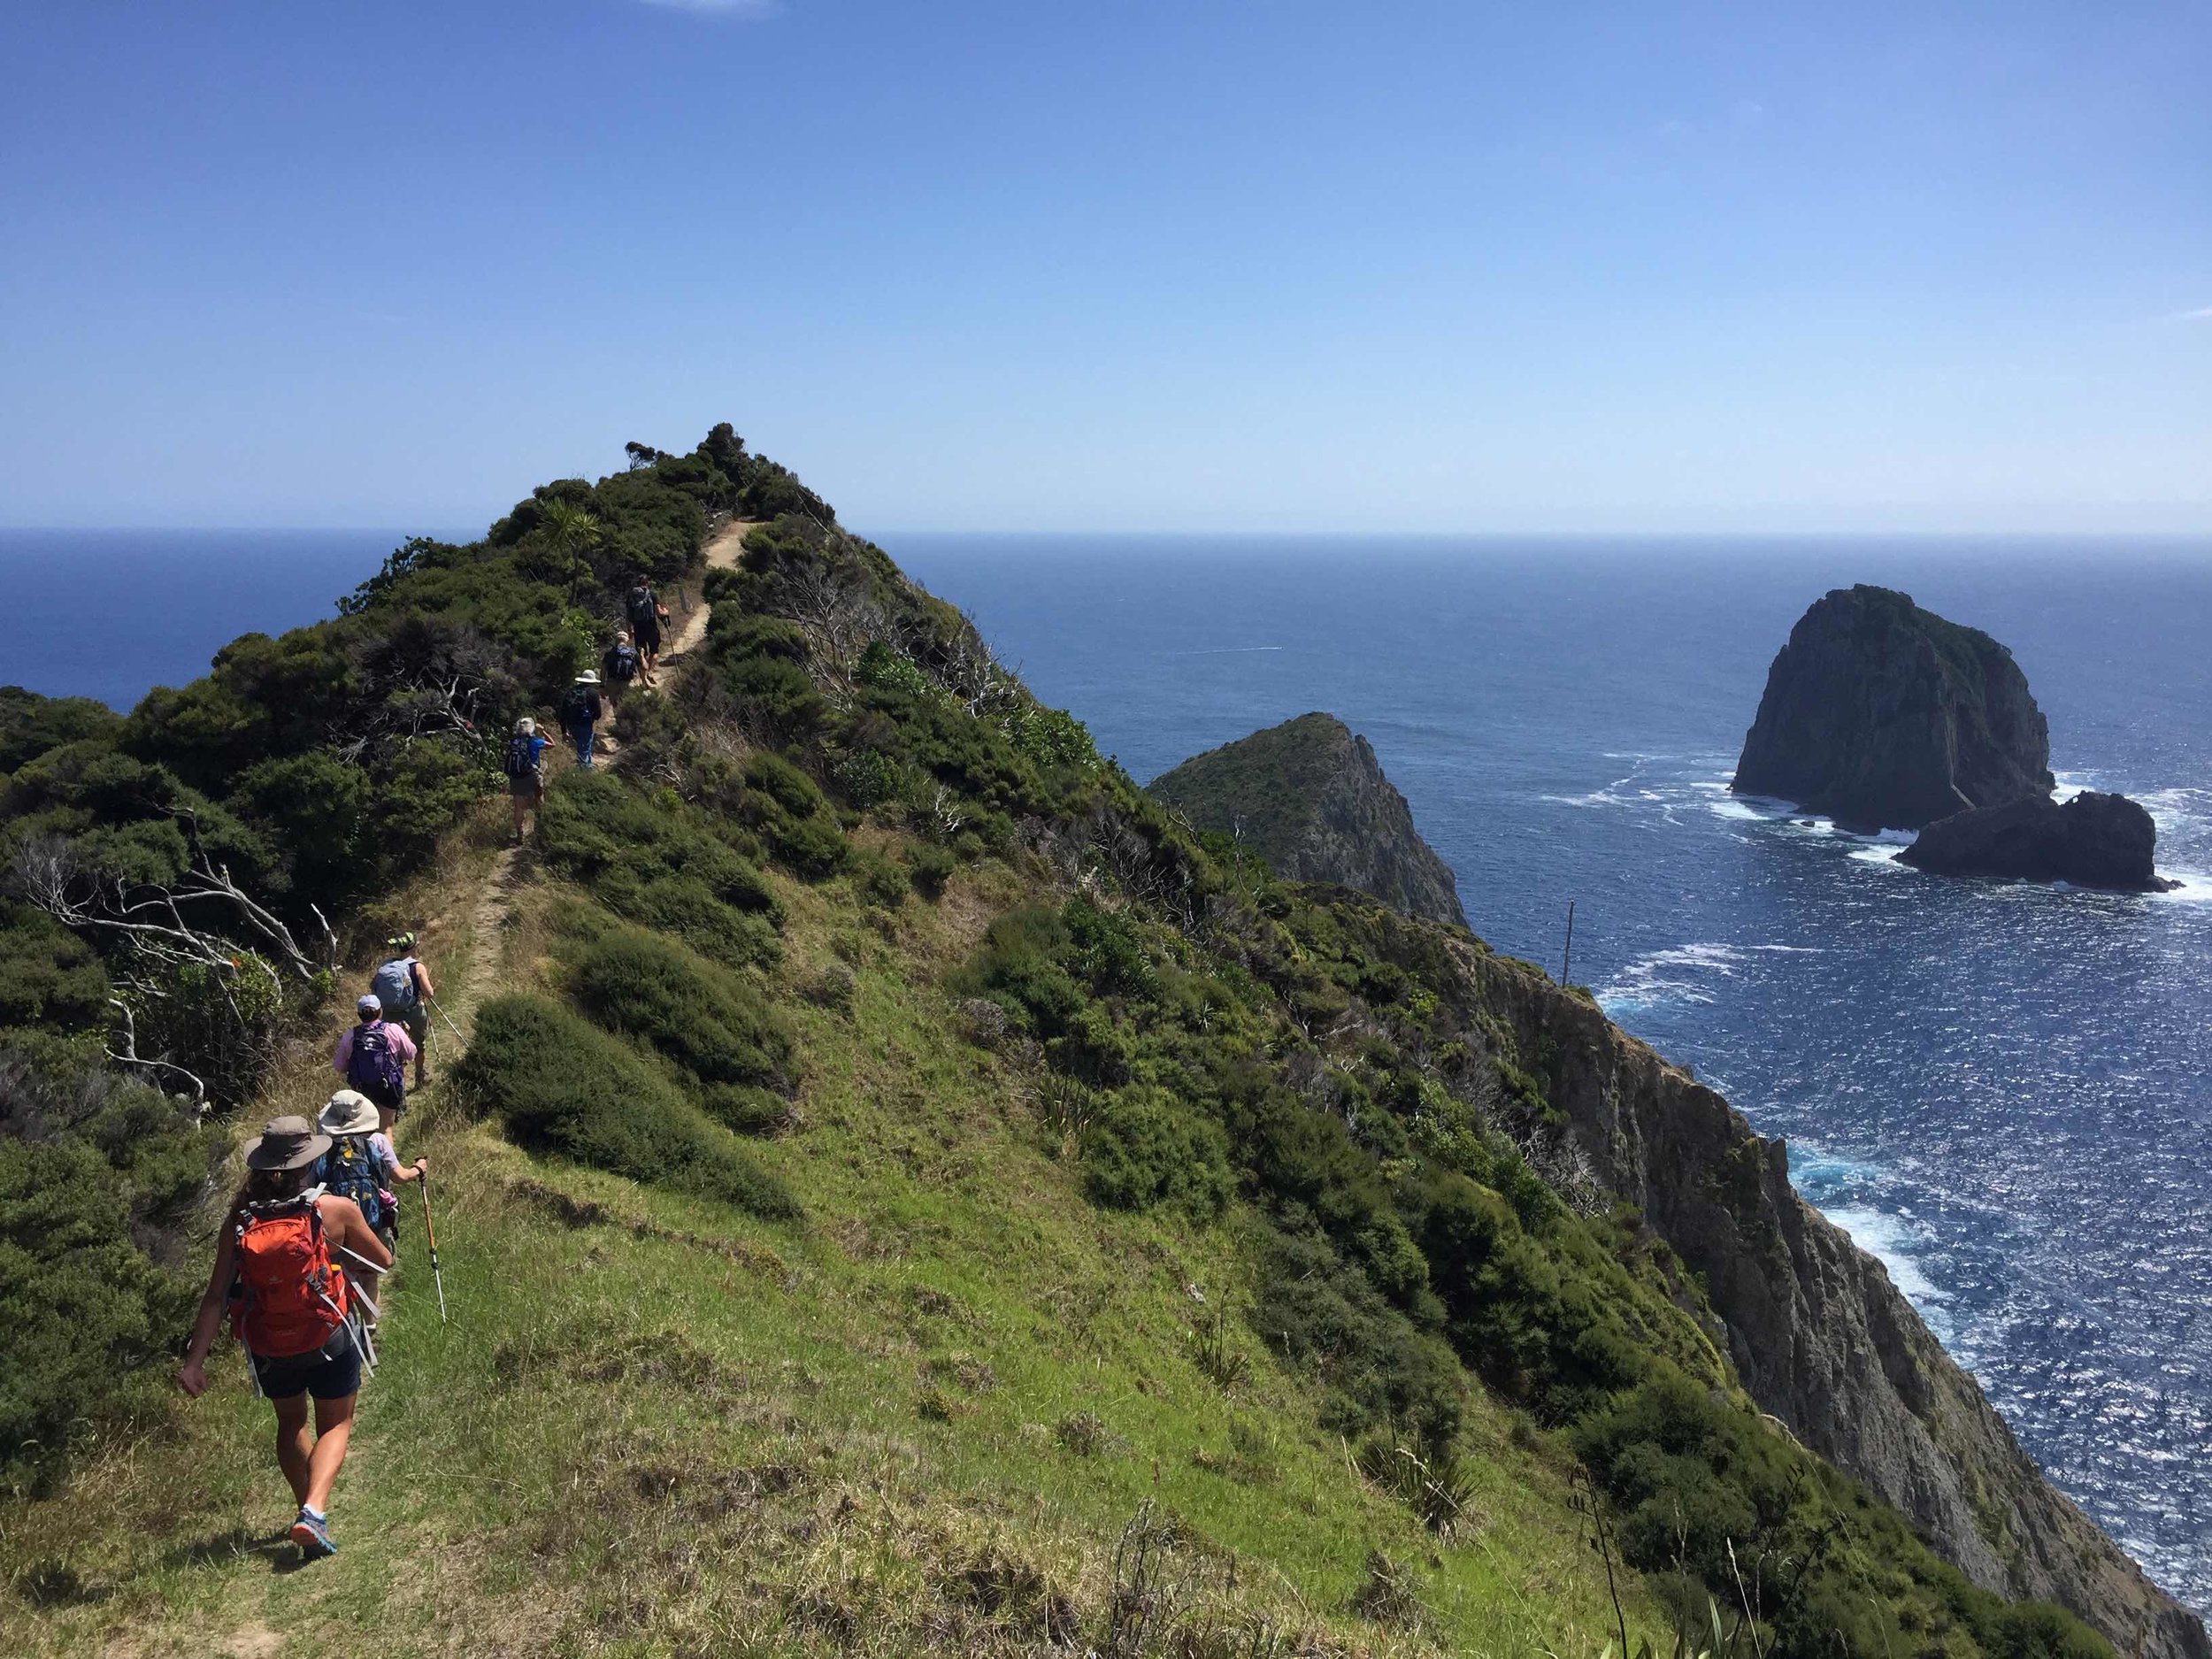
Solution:
<svg viewBox="0 0 2212 1659">
<path fill-rule="evenodd" d="M 608 929 L 584 947 L 573 987 L 593 1020 L 653 1044 L 699 1082 L 792 1086 L 781 1015 L 739 975 L 672 940 Z"/>
</svg>

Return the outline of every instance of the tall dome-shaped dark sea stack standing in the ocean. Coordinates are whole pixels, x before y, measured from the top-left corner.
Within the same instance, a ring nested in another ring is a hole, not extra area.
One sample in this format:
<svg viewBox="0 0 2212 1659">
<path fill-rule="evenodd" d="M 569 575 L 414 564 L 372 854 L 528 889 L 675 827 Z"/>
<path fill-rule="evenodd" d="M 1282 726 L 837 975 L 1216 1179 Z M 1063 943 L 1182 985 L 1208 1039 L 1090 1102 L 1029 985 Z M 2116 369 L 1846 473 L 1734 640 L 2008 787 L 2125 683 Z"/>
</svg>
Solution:
<svg viewBox="0 0 2212 1659">
<path fill-rule="evenodd" d="M 1860 584 L 1790 630 L 1730 787 L 1847 830 L 1920 830 L 2048 799 L 2051 732 L 2011 650 Z"/>
</svg>

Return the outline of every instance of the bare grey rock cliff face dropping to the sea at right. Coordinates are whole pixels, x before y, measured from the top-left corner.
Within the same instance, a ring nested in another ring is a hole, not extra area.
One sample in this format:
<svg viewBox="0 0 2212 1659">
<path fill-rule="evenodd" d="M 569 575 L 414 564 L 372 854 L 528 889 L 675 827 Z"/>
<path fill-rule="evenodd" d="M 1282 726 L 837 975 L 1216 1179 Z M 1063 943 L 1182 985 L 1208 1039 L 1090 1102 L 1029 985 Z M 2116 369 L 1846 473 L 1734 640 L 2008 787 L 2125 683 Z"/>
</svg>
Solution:
<svg viewBox="0 0 2212 1659">
<path fill-rule="evenodd" d="M 1975 1584 L 2081 1615 L 2121 1652 L 2212 1641 L 2020 1449 L 1887 1270 L 1790 1186 L 1783 1141 L 1542 973 L 1460 953 L 1473 1009 L 1546 1053 L 1562 1152 L 1694 1272 L 1765 1411 L 1896 1504 Z"/>
</svg>

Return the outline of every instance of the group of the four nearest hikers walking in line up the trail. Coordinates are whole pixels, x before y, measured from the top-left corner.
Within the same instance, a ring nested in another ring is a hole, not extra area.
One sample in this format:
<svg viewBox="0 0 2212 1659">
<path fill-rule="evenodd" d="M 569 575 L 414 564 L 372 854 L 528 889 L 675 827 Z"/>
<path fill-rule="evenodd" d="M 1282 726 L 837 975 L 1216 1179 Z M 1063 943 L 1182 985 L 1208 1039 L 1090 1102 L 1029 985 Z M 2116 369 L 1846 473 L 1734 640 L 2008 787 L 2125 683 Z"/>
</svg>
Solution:
<svg viewBox="0 0 2212 1659">
<path fill-rule="evenodd" d="M 398 1188 L 429 1177 L 429 1159 L 400 1164 L 392 1137 L 407 1110 L 407 1066 L 416 1088 L 427 1073 L 436 989 L 414 933 L 385 940 L 385 951 L 332 1053 L 345 1086 L 314 1124 L 274 1117 L 246 1146 L 246 1183 L 230 1201 L 177 1371 L 188 1396 L 206 1394 L 208 1352 L 228 1312 L 254 1391 L 276 1411 L 276 1467 L 299 1502 L 290 1535 L 307 1559 L 338 1548 L 330 1491 L 345 1462 L 363 1374 L 376 1365 L 383 1274 L 398 1248 Z M 431 1252 L 436 1265 L 436 1243 Z"/>
</svg>

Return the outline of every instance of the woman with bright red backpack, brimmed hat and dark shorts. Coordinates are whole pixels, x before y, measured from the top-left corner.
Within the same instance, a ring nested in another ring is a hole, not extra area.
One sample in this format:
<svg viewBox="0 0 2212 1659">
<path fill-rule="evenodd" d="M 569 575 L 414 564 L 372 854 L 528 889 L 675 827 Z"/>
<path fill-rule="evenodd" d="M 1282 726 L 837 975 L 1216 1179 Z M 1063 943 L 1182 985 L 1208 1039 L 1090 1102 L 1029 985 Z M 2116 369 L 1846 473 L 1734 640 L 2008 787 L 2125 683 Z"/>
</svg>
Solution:
<svg viewBox="0 0 2212 1659">
<path fill-rule="evenodd" d="M 330 1137 L 305 1117 L 276 1117 L 246 1146 L 246 1186 L 230 1203 L 208 1294 L 177 1383 L 208 1391 L 208 1349 L 223 1307 L 246 1343 L 257 1391 L 276 1407 L 276 1467 L 299 1504 L 292 1542 L 310 1562 L 336 1553 L 330 1489 L 338 1482 L 361 1394 L 361 1336 L 347 1270 L 392 1265 L 392 1252 L 352 1199 L 314 1190 Z M 307 1400 L 314 1433 L 307 1433 Z"/>
</svg>

